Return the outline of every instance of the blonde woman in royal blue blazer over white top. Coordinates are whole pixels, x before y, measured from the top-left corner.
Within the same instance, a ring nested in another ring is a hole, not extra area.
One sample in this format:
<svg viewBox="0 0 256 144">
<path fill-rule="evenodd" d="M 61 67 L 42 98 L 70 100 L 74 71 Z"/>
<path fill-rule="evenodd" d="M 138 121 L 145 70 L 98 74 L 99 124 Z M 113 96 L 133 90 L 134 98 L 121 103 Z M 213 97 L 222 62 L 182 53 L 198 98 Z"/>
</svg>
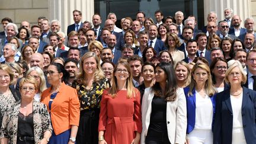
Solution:
<svg viewBox="0 0 256 144">
<path fill-rule="evenodd" d="M 187 143 L 213 143 L 212 124 L 215 113 L 215 89 L 210 68 L 197 63 L 191 71 L 191 83 L 184 88 L 187 101 Z"/>
</svg>

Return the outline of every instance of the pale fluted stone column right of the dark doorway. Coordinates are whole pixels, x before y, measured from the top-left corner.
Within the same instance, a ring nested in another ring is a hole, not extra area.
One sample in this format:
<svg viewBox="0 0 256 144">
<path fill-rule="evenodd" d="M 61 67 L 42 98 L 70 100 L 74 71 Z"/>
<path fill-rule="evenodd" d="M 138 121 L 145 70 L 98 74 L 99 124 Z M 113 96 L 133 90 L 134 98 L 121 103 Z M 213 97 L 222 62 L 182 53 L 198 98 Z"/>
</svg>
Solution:
<svg viewBox="0 0 256 144">
<path fill-rule="evenodd" d="M 205 0 L 204 1 L 204 24 L 207 24 L 207 14 L 210 11 L 217 13 L 217 21 L 224 20 L 224 9 L 232 8 L 233 15 L 239 15 L 242 20 L 242 27 L 244 27 L 244 20 L 251 17 L 251 0 Z"/>
</svg>

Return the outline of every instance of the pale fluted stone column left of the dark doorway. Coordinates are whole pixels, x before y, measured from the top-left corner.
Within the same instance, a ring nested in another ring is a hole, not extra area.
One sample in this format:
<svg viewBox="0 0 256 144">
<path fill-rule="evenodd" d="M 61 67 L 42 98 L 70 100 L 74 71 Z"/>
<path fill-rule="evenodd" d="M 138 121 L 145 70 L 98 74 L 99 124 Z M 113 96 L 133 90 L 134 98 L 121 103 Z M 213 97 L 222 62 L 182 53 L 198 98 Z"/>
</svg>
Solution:
<svg viewBox="0 0 256 144">
<path fill-rule="evenodd" d="M 72 11 L 82 12 L 82 22 L 91 21 L 94 15 L 94 0 L 48 0 L 49 20 L 59 20 L 61 30 L 66 34 L 68 25 L 73 24 Z"/>
</svg>

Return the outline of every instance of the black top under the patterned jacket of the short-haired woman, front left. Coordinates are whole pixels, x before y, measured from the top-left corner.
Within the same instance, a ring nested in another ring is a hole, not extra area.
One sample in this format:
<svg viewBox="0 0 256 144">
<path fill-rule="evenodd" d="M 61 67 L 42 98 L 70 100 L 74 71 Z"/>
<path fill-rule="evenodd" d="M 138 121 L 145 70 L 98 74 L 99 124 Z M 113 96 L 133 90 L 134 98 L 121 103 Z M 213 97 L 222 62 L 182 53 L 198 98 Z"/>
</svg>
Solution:
<svg viewBox="0 0 256 144">
<path fill-rule="evenodd" d="M 28 114 L 28 116 L 24 116 L 22 113 L 18 114 L 17 143 L 26 143 L 23 140 L 24 136 L 34 137 L 33 113 Z M 27 141 L 27 143 L 34 143 L 34 140 Z"/>
</svg>

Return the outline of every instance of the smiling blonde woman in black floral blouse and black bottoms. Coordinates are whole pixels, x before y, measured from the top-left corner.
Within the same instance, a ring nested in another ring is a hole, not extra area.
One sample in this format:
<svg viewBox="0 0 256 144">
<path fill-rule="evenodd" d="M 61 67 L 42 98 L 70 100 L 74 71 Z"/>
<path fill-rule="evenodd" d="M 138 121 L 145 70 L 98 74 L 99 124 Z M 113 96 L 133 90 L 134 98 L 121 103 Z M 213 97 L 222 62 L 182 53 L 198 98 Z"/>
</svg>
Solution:
<svg viewBox="0 0 256 144">
<path fill-rule="evenodd" d="M 94 52 L 87 52 L 79 63 L 79 72 L 72 87 L 78 92 L 80 120 L 76 142 L 98 143 L 100 101 L 110 82 L 101 70 L 100 59 Z"/>
</svg>

